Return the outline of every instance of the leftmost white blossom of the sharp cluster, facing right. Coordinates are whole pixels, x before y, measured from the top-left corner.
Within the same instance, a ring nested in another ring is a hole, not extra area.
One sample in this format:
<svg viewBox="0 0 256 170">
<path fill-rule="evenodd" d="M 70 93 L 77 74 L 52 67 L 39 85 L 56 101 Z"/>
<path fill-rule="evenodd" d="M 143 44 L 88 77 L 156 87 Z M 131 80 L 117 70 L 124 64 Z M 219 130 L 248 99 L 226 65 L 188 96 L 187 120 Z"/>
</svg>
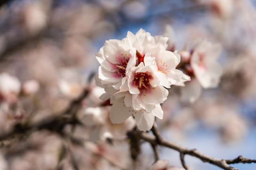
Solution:
<svg viewBox="0 0 256 170">
<path fill-rule="evenodd" d="M 99 53 L 96 53 L 96 58 L 101 64 L 97 76 L 102 87 L 112 86 L 119 90 L 126 81 L 125 72 L 128 61 L 135 55 L 136 51 L 127 38 L 106 41 Z"/>
</svg>

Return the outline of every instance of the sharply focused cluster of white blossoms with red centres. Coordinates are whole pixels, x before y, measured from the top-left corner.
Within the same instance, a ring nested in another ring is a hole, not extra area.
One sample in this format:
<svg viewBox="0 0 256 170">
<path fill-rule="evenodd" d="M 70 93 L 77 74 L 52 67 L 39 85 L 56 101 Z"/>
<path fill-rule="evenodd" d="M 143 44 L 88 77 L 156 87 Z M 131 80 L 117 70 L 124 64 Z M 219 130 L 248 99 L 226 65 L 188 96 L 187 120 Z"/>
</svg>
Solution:
<svg viewBox="0 0 256 170">
<path fill-rule="evenodd" d="M 96 53 L 101 65 L 96 83 L 106 91 L 100 98 L 110 98 L 113 104 L 112 123 L 119 124 L 133 116 L 141 131 L 150 130 L 155 117 L 163 118 L 160 103 L 167 99 L 167 88 L 184 86 L 190 80 L 176 69 L 180 55 L 166 50 L 167 41 L 167 37 L 155 39 L 140 29 L 135 35 L 128 32 L 122 40 L 106 41 Z"/>
</svg>

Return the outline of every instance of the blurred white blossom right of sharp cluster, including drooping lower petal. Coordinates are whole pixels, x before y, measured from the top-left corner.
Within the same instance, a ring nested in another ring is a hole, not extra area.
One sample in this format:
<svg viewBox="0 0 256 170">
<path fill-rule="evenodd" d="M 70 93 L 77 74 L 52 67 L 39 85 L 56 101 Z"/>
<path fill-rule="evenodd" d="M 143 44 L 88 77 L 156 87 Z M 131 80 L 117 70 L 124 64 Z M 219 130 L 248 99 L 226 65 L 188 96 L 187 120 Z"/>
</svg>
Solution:
<svg viewBox="0 0 256 170">
<path fill-rule="evenodd" d="M 222 67 L 217 59 L 221 53 L 221 46 L 202 40 L 195 43 L 191 53 L 189 60 L 188 53 L 181 53 L 185 54 L 185 57 L 181 57 L 185 59 L 181 60 L 182 69 L 192 77 L 192 80 L 181 89 L 181 96 L 185 101 L 194 102 L 201 94 L 201 86 L 207 89 L 216 88 L 219 84 Z"/>
</svg>

